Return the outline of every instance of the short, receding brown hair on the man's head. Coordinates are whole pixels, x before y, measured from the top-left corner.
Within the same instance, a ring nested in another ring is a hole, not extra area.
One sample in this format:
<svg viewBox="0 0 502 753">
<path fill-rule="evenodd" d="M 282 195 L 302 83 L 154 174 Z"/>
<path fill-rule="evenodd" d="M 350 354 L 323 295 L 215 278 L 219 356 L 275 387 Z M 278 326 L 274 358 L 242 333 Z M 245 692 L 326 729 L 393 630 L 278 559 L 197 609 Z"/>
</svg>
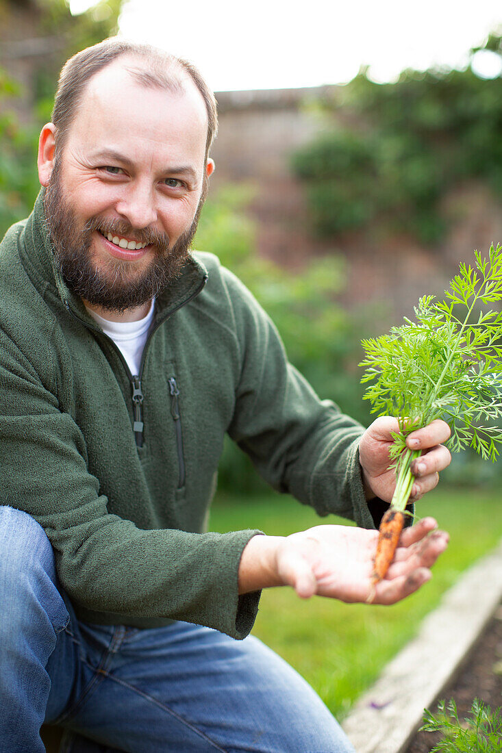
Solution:
<svg viewBox="0 0 502 753">
<path fill-rule="evenodd" d="M 76 53 L 66 61 L 61 70 L 51 120 L 57 127 L 57 148 L 63 147 L 69 127 L 81 104 L 87 81 L 106 68 L 113 60 L 127 55 L 148 62 L 148 70 L 130 69 L 131 75 L 145 87 L 158 87 L 171 91 L 181 90 L 179 72 L 185 72 L 200 91 L 207 110 L 206 158 L 218 131 L 216 99 L 200 72 L 187 60 L 171 55 L 150 44 L 139 44 L 125 39 L 105 39 L 92 47 Z"/>
</svg>

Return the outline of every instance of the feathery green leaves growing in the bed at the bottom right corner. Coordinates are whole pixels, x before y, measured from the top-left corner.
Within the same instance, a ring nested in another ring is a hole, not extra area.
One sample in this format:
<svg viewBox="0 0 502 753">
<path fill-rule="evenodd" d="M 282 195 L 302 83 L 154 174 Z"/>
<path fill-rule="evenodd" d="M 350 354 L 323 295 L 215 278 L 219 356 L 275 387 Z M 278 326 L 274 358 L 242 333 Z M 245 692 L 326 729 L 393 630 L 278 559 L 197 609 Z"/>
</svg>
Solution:
<svg viewBox="0 0 502 753">
<path fill-rule="evenodd" d="M 438 712 L 433 715 L 424 710 L 421 730 L 440 732 L 442 739 L 431 748 L 430 753 L 500 753 L 502 746 L 502 713 L 491 711 L 477 698 L 473 700 L 468 718 L 460 721 L 454 700 L 442 700 Z"/>
</svg>

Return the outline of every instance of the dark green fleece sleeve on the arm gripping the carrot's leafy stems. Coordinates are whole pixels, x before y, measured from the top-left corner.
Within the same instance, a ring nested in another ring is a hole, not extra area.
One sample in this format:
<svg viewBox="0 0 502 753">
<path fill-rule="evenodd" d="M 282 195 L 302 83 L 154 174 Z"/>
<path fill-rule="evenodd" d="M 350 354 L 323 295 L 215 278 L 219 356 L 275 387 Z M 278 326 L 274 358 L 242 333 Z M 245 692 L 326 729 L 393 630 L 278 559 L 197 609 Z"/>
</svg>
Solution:
<svg viewBox="0 0 502 753">
<path fill-rule="evenodd" d="M 240 342 L 240 380 L 228 433 L 274 489 L 318 514 L 374 528 L 359 462 L 364 428 L 320 400 L 289 363 L 277 329 L 247 288 L 223 270 Z"/>
</svg>

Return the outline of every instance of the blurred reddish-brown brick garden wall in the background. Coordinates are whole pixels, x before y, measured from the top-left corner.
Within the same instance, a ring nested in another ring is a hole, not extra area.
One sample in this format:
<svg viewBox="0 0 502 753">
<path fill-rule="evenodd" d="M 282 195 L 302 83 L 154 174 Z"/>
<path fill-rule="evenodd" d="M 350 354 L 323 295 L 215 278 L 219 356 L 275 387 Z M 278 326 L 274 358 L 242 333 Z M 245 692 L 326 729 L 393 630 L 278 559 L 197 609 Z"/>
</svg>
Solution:
<svg viewBox="0 0 502 753">
<path fill-rule="evenodd" d="M 371 233 L 347 233 L 336 242 L 314 237 L 302 184 L 289 170 L 289 154 L 326 127 L 315 103 L 334 89 L 217 94 L 220 126 L 212 191 L 226 181 L 253 184 L 249 213 L 258 222 L 261 255 L 301 268 L 312 255 L 338 253 L 347 263 L 342 302 L 354 307 L 378 303 L 375 316 L 395 321 L 411 312 L 421 294 L 442 294 L 458 262 L 468 260 L 474 248 L 484 251 L 491 242 L 502 242 L 502 208 L 484 186 L 458 185 L 443 201 L 452 230 L 442 245 L 424 247 L 406 236 Z"/>
</svg>

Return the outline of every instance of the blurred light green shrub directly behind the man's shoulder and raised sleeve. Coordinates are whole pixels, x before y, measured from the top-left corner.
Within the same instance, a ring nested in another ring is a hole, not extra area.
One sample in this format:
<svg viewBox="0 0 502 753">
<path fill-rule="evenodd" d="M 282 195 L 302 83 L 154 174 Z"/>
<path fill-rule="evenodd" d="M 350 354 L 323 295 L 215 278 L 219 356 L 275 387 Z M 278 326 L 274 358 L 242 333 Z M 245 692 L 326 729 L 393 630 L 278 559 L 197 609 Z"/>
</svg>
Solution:
<svg viewBox="0 0 502 753">
<path fill-rule="evenodd" d="M 249 187 L 228 186 L 208 200 L 194 248 L 215 253 L 248 286 L 277 325 L 289 360 L 317 393 L 367 423 L 357 368 L 361 320 L 336 303 L 344 287 L 341 259 L 312 259 L 294 273 L 257 256 L 253 222 L 244 212 L 251 195 Z M 249 459 L 230 441 L 225 444 L 219 485 L 244 493 L 263 486 Z"/>
</svg>

